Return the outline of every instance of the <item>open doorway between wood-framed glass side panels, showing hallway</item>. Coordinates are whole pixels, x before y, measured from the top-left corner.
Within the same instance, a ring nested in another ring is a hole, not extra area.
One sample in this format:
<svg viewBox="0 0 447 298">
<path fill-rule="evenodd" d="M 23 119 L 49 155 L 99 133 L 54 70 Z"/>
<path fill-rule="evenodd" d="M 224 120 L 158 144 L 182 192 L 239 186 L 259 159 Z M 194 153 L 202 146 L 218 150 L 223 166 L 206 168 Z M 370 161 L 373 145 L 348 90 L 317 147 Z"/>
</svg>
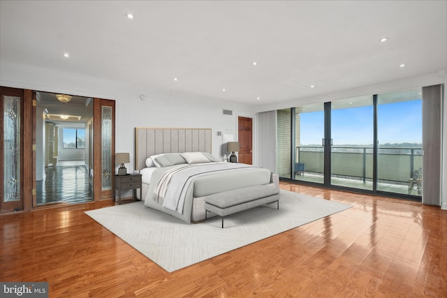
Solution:
<svg viewBox="0 0 447 298">
<path fill-rule="evenodd" d="M 36 92 L 35 206 L 94 200 L 93 98 L 57 96 Z"/>
</svg>

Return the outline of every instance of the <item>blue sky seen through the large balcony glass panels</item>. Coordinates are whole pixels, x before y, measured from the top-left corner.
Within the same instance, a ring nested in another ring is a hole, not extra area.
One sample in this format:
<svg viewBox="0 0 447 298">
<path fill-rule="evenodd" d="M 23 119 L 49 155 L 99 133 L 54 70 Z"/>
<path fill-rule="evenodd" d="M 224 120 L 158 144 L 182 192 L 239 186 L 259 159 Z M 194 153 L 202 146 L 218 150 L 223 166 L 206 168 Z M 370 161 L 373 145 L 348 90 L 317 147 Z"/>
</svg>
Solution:
<svg viewBox="0 0 447 298">
<path fill-rule="evenodd" d="M 422 143 L 422 100 L 379 104 L 377 106 L 379 144 Z M 300 114 L 300 144 L 321 145 L 324 137 L 324 114 Z M 373 107 L 332 110 L 332 144 L 369 145 L 373 143 Z"/>
</svg>

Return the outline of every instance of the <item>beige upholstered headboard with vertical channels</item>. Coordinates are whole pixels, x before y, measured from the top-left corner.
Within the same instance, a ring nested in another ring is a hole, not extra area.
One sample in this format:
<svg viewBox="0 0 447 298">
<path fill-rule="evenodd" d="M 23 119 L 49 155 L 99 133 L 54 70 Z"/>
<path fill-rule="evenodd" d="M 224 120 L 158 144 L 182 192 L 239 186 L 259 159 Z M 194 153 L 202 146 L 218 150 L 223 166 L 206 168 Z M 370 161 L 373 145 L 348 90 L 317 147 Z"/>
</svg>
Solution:
<svg viewBox="0 0 447 298">
<path fill-rule="evenodd" d="M 135 169 L 154 154 L 211 152 L 211 128 L 135 128 Z"/>
</svg>

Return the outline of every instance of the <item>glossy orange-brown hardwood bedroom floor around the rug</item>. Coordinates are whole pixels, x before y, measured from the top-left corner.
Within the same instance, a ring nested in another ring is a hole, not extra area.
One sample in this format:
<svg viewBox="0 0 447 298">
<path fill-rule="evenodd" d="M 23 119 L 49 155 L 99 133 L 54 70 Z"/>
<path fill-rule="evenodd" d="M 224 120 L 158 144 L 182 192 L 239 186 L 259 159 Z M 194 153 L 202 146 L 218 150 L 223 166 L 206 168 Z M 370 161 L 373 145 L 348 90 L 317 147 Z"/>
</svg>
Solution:
<svg viewBox="0 0 447 298">
<path fill-rule="evenodd" d="M 0 216 L 0 281 L 50 297 L 447 297 L 447 211 L 281 183 L 353 208 L 168 273 L 84 214 L 111 201 Z"/>
</svg>

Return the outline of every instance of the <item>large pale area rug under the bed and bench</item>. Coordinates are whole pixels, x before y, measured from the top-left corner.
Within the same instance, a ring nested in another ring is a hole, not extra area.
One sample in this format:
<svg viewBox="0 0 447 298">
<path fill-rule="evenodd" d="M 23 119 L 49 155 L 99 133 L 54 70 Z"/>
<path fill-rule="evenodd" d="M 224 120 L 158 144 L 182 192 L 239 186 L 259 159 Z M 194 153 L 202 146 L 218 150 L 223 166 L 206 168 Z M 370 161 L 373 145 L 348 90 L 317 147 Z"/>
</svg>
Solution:
<svg viewBox="0 0 447 298">
<path fill-rule="evenodd" d="M 85 213 L 172 272 L 351 207 L 282 190 L 270 206 L 227 216 L 223 229 L 220 218 L 188 224 L 140 201 Z"/>
</svg>

